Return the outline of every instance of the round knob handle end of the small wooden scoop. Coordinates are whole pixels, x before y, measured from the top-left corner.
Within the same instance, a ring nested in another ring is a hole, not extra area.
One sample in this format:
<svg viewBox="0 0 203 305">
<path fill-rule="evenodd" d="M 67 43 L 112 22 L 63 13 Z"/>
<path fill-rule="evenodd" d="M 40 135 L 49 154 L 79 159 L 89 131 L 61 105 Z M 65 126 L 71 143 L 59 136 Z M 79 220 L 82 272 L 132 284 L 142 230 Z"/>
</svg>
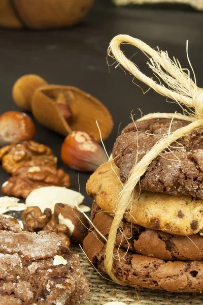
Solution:
<svg viewBox="0 0 203 305">
<path fill-rule="evenodd" d="M 35 75 L 27 74 L 21 76 L 13 85 L 12 97 L 18 107 L 31 111 L 31 98 L 33 93 L 39 87 L 47 85 L 44 78 Z"/>
</svg>

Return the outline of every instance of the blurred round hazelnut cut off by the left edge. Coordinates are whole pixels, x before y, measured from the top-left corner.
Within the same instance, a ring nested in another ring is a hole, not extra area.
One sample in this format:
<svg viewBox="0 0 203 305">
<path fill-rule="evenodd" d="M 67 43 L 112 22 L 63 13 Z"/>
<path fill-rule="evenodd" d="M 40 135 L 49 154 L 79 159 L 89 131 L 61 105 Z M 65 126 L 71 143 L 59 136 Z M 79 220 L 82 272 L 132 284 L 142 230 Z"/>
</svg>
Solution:
<svg viewBox="0 0 203 305">
<path fill-rule="evenodd" d="M 8 111 L 0 116 L 0 139 L 5 143 L 28 141 L 35 133 L 35 125 L 25 113 Z"/>
</svg>

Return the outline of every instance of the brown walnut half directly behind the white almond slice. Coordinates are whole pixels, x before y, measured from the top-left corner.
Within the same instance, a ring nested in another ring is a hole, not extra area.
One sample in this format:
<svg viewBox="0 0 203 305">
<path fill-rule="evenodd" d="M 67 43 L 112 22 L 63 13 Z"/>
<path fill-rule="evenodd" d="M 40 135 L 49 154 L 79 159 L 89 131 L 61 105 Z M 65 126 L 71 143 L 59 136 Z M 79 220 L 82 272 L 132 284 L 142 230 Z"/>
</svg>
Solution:
<svg viewBox="0 0 203 305">
<path fill-rule="evenodd" d="M 7 196 L 27 198 L 36 189 L 48 186 L 70 187 L 71 178 L 62 169 L 54 166 L 22 166 L 2 186 Z"/>
</svg>

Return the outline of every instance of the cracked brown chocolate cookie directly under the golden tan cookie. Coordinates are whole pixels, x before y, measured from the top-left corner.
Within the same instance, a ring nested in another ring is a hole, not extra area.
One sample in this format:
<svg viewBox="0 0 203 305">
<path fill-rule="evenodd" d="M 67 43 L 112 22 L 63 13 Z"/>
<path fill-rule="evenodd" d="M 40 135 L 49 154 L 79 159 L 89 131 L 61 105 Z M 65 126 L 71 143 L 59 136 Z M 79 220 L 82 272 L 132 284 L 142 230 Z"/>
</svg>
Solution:
<svg viewBox="0 0 203 305">
<path fill-rule="evenodd" d="M 92 211 L 94 226 L 108 239 L 113 217 L 100 209 L 95 202 Z M 191 235 L 190 238 L 172 235 L 146 229 L 125 219 L 117 231 L 115 247 L 163 260 L 203 260 L 203 237 L 199 234 Z"/>
</svg>

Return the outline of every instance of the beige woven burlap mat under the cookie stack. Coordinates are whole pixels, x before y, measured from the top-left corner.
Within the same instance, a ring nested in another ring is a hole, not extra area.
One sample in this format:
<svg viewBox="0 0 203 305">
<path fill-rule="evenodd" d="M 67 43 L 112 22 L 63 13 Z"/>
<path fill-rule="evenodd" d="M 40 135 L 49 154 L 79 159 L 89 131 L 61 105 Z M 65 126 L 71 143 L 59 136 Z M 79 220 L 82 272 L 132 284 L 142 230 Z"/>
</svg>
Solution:
<svg viewBox="0 0 203 305">
<path fill-rule="evenodd" d="M 127 305 L 197 305 L 203 304 L 201 293 L 168 293 L 165 291 L 135 290 L 119 286 L 103 279 L 90 266 L 85 254 L 80 248 L 72 248 L 79 254 L 82 270 L 90 284 L 90 292 L 82 305 L 104 305 L 110 301 L 122 301 Z"/>
</svg>

